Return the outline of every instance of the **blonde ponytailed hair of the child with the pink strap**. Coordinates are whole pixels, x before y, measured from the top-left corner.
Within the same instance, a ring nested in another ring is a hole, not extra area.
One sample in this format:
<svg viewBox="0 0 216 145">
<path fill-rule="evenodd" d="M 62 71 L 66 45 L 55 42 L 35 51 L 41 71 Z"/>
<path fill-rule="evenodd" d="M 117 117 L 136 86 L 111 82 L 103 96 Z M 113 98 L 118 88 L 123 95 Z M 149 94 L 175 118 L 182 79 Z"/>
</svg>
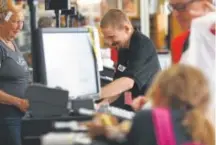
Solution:
<svg viewBox="0 0 216 145">
<path fill-rule="evenodd" d="M 186 114 L 182 123 L 188 129 L 193 141 L 214 145 L 214 128 L 205 117 L 209 101 L 207 84 L 204 75 L 196 68 L 173 65 L 157 75 L 147 92 L 147 97 L 152 98 L 154 103 L 154 97 L 159 91 L 159 96 L 163 97 L 163 103 L 167 107 L 185 109 Z"/>
</svg>

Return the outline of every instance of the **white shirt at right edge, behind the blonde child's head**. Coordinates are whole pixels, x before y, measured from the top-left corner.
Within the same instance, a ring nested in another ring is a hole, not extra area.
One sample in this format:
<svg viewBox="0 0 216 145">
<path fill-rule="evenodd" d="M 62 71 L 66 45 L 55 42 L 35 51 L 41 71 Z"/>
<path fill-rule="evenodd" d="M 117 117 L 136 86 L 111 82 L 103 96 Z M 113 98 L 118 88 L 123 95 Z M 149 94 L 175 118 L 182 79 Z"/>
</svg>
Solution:
<svg viewBox="0 0 216 145">
<path fill-rule="evenodd" d="M 199 68 L 207 77 L 210 85 L 211 100 L 208 117 L 215 123 L 215 53 L 216 38 L 210 31 L 216 22 L 216 12 L 195 19 L 192 22 L 189 49 L 184 53 L 180 63 Z"/>
</svg>

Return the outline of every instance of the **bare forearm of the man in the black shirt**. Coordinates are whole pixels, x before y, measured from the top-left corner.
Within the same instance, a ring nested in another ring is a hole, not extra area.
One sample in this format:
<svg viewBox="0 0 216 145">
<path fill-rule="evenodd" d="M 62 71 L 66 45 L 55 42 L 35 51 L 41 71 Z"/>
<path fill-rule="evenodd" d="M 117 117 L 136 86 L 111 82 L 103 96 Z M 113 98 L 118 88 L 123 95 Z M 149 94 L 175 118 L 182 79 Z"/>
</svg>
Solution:
<svg viewBox="0 0 216 145">
<path fill-rule="evenodd" d="M 102 88 L 101 99 L 114 101 L 114 98 L 117 99 L 121 93 L 133 88 L 133 85 L 133 79 L 129 77 L 121 77 Z"/>
</svg>

